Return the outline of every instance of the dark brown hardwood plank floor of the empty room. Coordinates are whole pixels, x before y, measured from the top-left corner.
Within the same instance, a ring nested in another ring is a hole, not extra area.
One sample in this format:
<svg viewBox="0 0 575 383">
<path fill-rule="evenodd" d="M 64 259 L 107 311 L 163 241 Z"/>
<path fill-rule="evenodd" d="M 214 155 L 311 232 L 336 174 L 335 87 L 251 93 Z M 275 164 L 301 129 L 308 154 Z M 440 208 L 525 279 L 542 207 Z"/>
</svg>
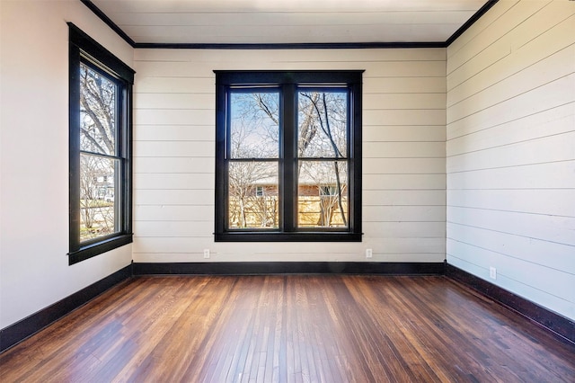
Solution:
<svg viewBox="0 0 575 383">
<path fill-rule="evenodd" d="M 2 382 L 573 382 L 575 347 L 445 277 L 139 277 L 0 354 Z"/>
</svg>

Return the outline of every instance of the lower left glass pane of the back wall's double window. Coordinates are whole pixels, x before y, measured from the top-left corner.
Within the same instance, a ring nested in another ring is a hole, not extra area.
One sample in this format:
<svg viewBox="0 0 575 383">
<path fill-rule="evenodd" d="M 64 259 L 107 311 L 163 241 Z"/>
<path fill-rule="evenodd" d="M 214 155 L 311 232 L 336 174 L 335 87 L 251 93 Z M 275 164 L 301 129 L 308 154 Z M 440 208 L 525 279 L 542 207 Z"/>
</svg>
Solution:
<svg viewBox="0 0 575 383">
<path fill-rule="evenodd" d="M 229 228 L 279 227 L 278 162 L 230 163 L 228 191 Z"/>
</svg>

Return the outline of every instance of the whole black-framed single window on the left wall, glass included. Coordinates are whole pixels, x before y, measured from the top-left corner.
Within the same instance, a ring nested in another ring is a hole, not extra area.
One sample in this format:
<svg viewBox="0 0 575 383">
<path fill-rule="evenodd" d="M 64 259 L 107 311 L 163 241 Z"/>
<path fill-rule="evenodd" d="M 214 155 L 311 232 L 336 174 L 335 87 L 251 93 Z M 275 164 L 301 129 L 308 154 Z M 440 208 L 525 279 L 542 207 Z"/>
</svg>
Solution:
<svg viewBox="0 0 575 383">
<path fill-rule="evenodd" d="M 132 242 L 134 71 L 69 26 L 70 253 L 74 264 Z"/>
</svg>

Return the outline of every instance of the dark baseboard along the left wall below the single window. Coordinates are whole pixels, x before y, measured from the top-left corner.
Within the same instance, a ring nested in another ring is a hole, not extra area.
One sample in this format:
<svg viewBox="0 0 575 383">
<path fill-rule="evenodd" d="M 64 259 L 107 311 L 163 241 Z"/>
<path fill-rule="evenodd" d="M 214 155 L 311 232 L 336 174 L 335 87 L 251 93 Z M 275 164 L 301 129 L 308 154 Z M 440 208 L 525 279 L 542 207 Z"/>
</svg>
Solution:
<svg viewBox="0 0 575 383">
<path fill-rule="evenodd" d="M 76 308 L 83 306 L 85 303 L 107 289 L 125 281 L 132 276 L 132 265 L 124 267 L 118 272 L 114 272 L 108 277 L 97 281 L 92 285 L 81 289 L 74 294 L 57 301 L 49 307 L 41 309 L 39 312 L 32 314 L 13 325 L 9 325 L 0 330 L 0 352 L 9 349 L 16 343 L 22 342 L 32 334 L 38 333 L 44 327 L 54 323 L 57 319 L 66 316 Z"/>
</svg>

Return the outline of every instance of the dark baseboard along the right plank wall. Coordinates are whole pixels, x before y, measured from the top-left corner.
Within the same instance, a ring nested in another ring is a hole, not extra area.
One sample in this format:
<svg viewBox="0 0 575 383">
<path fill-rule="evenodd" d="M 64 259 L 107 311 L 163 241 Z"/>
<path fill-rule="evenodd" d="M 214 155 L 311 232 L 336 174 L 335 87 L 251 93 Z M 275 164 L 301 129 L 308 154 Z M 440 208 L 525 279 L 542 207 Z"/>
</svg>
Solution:
<svg viewBox="0 0 575 383">
<path fill-rule="evenodd" d="M 464 272 L 451 264 L 446 265 L 446 275 L 454 281 L 464 284 L 466 287 L 474 289 L 484 296 L 495 300 L 501 305 L 516 311 L 527 319 L 544 326 L 553 334 L 558 335 L 564 342 L 575 344 L 575 322 L 553 313 L 547 308 L 541 307 L 526 298 L 521 298 L 512 292 L 501 289 L 488 281 Z"/>
</svg>

